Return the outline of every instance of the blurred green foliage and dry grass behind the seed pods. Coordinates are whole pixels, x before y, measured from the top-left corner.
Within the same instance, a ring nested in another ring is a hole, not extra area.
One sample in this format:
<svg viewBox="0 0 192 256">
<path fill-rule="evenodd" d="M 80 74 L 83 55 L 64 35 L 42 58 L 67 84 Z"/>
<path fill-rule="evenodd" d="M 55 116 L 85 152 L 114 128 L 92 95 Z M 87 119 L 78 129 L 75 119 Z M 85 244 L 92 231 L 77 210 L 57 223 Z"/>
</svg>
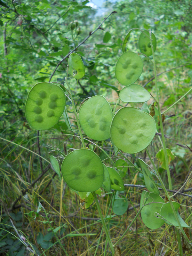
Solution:
<svg viewBox="0 0 192 256">
<path fill-rule="evenodd" d="M 121 89 L 115 78 L 115 65 L 121 54 L 124 36 L 131 28 L 150 28 L 157 39 L 157 73 L 162 73 L 158 76 L 162 111 L 183 96 L 191 86 L 192 4 L 190 0 L 124 0 L 116 3 L 105 1 L 105 13 L 97 12 L 88 6 L 88 3 L 87 0 L 0 1 L 1 255 L 33 255 L 28 248 L 34 248 L 39 255 L 44 255 L 42 250 L 47 256 L 62 255 L 60 245 L 54 244 L 56 240 L 48 223 L 41 222 L 45 221 L 44 217 L 37 216 L 34 221 L 32 213 L 25 215 L 31 211 L 36 212 L 39 202 L 47 212 L 51 209 L 52 228 L 61 226 L 57 234 L 62 238 L 62 244 L 69 255 L 93 255 L 97 245 L 101 224 L 97 222 L 98 213 L 95 204 L 88 209 L 82 209 L 78 196 L 66 186 L 61 191 L 63 218 L 60 222 L 60 180 L 49 163 L 50 148 L 46 148 L 51 147 L 52 150 L 59 148 L 66 154 L 69 148 L 80 147 L 78 137 L 74 136 L 64 122 L 64 118 L 61 118 L 53 128 L 44 131 L 43 140 L 39 141 L 36 131 L 31 129 L 25 118 L 24 105 L 29 90 L 38 82 L 48 82 L 60 60 L 69 52 L 75 51 L 84 61 L 86 68 L 84 79 L 80 80 L 78 85 L 72 81 L 77 109 L 85 98 L 96 94 L 105 96 L 113 109 L 118 91 Z M 77 45 L 89 36 L 110 12 L 115 13 L 76 49 Z M 74 20 L 78 21 L 78 26 L 71 31 L 70 22 Z M 77 35 L 78 31 L 79 35 Z M 139 33 L 132 32 L 128 43 L 129 50 L 137 51 L 138 35 Z M 67 61 L 67 58 L 62 61 L 51 81 L 60 83 L 64 81 Z M 154 81 L 150 81 L 154 76 L 152 70 L 152 64 L 144 59 L 144 71 L 138 83 L 146 85 L 148 91 L 155 95 Z M 140 108 L 148 109 L 151 103 L 152 101 L 148 104 L 140 104 Z M 71 112 L 69 116 L 73 119 L 69 101 L 67 105 L 68 112 Z M 175 156 L 170 164 L 174 189 L 180 188 L 180 182 L 185 180 L 192 164 L 191 123 L 190 94 L 166 114 L 164 121 L 167 145 Z M 71 125 L 75 135 L 78 135 L 76 122 L 72 122 Z M 104 146 L 112 157 L 108 141 Z M 156 138 L 153 150 L 157 153 L 159 149 L 160 143 Z M 102 160 L 106 158 L 102 151 L 95 150 Z M 58 156 L 57 152 L 51 153 Z M 39 155 L 43 159 L 39 158 Z M 138 153 L 138 156 L 144 159 L 146 157 L 144 151 Z M 137 170 L 139 164 L 136 162 L 136 154 L 127 157 L 133 166 L 128 166 L 124 183 L 143 185 L 143 176 Z M 106 161 L 112 164 L 110 160 Z M 160 164 L 158 170 L 166 184 L 166 175 Z M 183 205 L 180 214 L 188 220 L 188 225 L 191 224 L 190 187 L 189 182 L 185 188 L 188 189 L 186 192 L 188 196 L 177 197 L 178 202 Z M 132 187 L 128 187 L 124 192 L 124 196 L 128 199 L 129 211 L 110 221 L 110 233 L 114 241 L 116 237 L 121 236 L 134 218 L 141 192 L 141 188 Z M 109 200 L 110 195 L 103 192 L 100 205 L 104 213 Z M 186 208 L 186 205 L 189 207 Z M 78 229 L 76 234 L 97 235 L 72 236 L 71 232 L 76 229 Z M 23 241 L 26 241 L 27 245 L 18 240 L 16 230 L 20 236 L 23 236 Z M 186 230 L 186 233 L 191 237 L 190 230 Z M 103 255 L 104 235 L 99 246 L 98 255 Z M 166 225 L 151 232 L 144 226 L 140 217 L 119 246 L 122 255 L 178 254 L 176 233 L 172 227 Z M 191 255 L 184 243 L 183 249 L 184 251 L 186 249 L 185 255 Z"/>
</svg>

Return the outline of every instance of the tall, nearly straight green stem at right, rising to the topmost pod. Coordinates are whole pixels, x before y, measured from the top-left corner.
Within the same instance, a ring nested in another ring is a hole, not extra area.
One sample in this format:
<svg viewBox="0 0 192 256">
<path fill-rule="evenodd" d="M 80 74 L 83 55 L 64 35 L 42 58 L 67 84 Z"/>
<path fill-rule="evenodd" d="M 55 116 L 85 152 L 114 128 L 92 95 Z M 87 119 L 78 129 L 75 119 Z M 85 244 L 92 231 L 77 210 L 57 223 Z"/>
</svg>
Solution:
<svg viewBox="0 0 192 256">
<path fill-rule="evenodd" d="M 159 104 L 159 93 L 158 93 L 158 87 L 157 87 L 157 74 L 156 74 L 156 61 L 155 61 L 155 55 L 154 55 L 154 50 L 153 50 L 153 43 L 152 43 L 152 39 L 151 39 L 151 33 L 150 33 L 150 43 L 151 43 L 151 49 L 152 49 L 152 53 L 153 53 L 155 89 L 156 89 L 157 107 L 158 107 L 158 113 L 159 113 L 159 123 L 160 123 L 160 129 L 161 129 L 161 134 L 162 134 L 163 151 L 164 151 L 164 156 L 165 156 L 165 165 L 166 165 L 166 170 L 167 170 L 169 189 L 172 190 L 171 174 L 170 174 L 170 170 L 169 170 L 169 162 L 168 162 L 167 149 L 166 149 L 165 137 L 164 137 L 164 131 L 163 131 L 163 122 L 162 122 L 162 118 L 161 118 L 161 109 L 160 109 L 160 104 Z"/>
</svg>

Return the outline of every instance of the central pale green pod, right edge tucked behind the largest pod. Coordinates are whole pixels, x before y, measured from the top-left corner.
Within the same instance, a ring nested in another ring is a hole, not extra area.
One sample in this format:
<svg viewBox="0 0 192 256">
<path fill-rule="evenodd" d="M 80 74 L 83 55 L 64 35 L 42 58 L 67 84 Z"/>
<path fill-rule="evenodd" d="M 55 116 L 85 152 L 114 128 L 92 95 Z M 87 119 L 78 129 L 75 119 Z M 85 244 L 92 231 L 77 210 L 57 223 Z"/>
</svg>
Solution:
<svg viewBox="0 0 192 256">
<path fill-rule="evenodd" d="M 79 110 L 79 122 L 84 133 L 93 140 L 107 140 L 113 113 L 108 101 L 96 95 L 85 101 Z"/>
</svg>

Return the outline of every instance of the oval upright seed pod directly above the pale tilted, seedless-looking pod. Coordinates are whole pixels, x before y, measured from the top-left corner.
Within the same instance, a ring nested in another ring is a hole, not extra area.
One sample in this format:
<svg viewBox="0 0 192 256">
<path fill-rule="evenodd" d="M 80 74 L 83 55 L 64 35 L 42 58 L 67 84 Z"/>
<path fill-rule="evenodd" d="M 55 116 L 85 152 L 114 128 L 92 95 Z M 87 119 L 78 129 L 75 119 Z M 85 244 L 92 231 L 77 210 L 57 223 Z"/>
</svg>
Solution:
<svg viewBox="0 0 192 256">
<path fill-rule="evenodd" d="M 119 83 L 129 85 L 137 81 L 143 71 L 143 60 L 135 52 L 124 52 L 116 63 L 115 76 Z"/>
</svg>

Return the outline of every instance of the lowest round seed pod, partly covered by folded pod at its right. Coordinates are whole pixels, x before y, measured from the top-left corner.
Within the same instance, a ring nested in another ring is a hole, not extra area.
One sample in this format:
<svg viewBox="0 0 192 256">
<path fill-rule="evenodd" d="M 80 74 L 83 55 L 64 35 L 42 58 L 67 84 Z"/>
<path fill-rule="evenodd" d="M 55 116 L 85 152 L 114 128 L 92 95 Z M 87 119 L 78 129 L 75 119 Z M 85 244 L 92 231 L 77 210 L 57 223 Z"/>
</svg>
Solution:
<svg viewBox="0 0 192 256">
<path fill-rule="evenodd" d="M 144 190 L 141 194 L 140 207 L 143 204 L 147 204 L 141 210 L 141 218 L 144 224 L 151 229 L 160 228 L 164 224 L 164 220 L 156 216 L 158 216 L 157 214 L 160 215 L 161 207 L 164 204 L 163 198 L 155 193 L 149 193 Z"/>
</svg>

